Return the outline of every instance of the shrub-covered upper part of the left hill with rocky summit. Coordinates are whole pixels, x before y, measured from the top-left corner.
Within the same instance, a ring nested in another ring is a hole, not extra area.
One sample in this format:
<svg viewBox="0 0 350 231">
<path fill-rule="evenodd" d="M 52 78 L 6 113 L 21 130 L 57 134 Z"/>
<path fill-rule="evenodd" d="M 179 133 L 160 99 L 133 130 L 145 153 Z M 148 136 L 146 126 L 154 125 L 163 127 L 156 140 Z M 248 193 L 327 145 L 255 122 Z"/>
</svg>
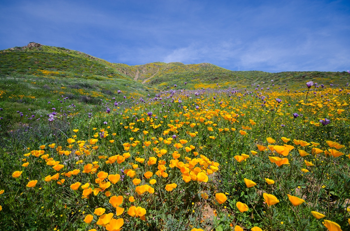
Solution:
<svg viewBox="0 0 350 231">
<path fill-rule="evenodd" d="M 1 74 L 41 75 L 43 70 L 64 77 L 100 80 L 104 76 L 131 80 L 120 74 L 110 62 L 64 47 L 29 43 L 28 46 L 0 51 Z"/>
</svg>

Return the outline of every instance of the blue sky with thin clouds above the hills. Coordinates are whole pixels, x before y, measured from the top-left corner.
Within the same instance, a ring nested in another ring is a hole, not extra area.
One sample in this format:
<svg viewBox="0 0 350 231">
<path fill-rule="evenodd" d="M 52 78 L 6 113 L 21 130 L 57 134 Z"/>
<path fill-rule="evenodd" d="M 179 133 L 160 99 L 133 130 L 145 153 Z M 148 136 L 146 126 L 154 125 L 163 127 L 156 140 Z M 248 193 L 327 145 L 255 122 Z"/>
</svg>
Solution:
<svg viewBox="0 0 350 231">
<path fill-rule="evenodd" d="M 0 50 L 29 42 L 128 65 L 344 71 L 350 1 L 2 0 Z"/>
</svg>

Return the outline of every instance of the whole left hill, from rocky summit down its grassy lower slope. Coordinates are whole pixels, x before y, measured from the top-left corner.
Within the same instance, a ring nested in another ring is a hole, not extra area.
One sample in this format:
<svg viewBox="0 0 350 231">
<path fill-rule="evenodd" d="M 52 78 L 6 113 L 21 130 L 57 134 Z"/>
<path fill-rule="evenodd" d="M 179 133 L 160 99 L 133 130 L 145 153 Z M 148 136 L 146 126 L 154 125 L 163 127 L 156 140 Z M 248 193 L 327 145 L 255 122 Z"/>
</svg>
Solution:
<svg viewBox="0 0 350 231">
<path fill-rule="evenodd" d="M 62 106 L 57 99 L 65 102 L 68 97 L 74 111 L 87 111 L 109 100 L 155 92 L 158 89 L 121 74 L 113 64 L 79 51 L 36 43 L 0 51 L 2 128 L 19 121 L 17 111 L 46 116 L 52 107 Z"/>
</svg>

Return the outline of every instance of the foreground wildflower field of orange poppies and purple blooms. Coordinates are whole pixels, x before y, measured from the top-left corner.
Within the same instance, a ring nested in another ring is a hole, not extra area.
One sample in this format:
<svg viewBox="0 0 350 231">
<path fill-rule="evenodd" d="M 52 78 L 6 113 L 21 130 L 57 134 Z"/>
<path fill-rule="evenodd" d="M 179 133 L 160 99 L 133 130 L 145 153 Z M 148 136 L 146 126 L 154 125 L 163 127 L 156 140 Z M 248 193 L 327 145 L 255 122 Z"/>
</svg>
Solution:
<svg viewBox="0 0 350 231">
<path fill-rule="evenodd" d="M 76 113 L 62 94 L 19 116 L 1 134 L 1 230 L 350 230 L 348 84 L 273 83 Z"/>
</svg>

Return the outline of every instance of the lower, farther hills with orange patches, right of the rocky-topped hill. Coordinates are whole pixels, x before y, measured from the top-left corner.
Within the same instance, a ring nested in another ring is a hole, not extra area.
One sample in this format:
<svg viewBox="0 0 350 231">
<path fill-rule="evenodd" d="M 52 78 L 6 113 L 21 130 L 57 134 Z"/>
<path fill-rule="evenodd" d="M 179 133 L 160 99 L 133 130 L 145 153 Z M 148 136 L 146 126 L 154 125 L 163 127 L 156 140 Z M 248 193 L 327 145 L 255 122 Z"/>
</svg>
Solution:
<svg viewBox="0 0 350 231">
<path fill-rule="evenodd" d="M 260 84 L 267 87 L 273 80 L 275 85 L 285 84 L 289 88 L 304 87 L 307 81 L 313 80 L 323 84 L 344 84 L 349 81 L 346 72 L 280 72 L 268 73 L 261 71 L 231 71 L 213 64 L 182 64 L 181 62 L 153 62 L 145 65 L 128 66 L 114 64 L 119 72 L 133 77 L 135 81 L 151 85 L 160 90 L 168 86 L 177 88 L 197 89 L 221 87 L 247 87 Z M 185 82 L 187 82 L 185 86 Z"/>
</svg>

